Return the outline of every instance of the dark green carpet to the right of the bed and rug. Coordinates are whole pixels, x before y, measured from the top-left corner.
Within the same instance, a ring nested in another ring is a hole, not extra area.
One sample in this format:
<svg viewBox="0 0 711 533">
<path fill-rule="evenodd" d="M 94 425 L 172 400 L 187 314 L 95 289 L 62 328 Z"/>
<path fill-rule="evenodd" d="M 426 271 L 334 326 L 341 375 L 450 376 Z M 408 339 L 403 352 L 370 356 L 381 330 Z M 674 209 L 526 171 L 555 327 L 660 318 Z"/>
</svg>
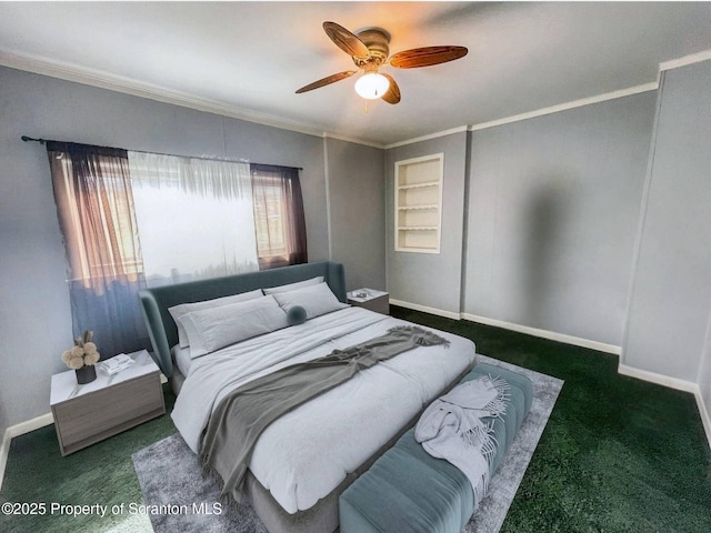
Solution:
<svg viewBox="0 0 711 533">
<path fill-rule="evenodd" d="M 618 374 L 617 355 L 404 309 L 392 314 L 565 381 L 502 532 L 711 532 L 711 451 L 692 394 Z"/>
</svg>

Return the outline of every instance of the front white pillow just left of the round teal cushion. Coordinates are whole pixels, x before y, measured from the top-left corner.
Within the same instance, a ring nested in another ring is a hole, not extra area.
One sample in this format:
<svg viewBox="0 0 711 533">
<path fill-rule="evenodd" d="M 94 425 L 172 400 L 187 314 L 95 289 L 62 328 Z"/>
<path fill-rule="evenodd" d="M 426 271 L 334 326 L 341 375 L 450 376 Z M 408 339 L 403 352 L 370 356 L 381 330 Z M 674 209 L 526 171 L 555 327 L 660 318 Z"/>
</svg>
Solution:
<svg viewBox="0 0 711 533">
<path fill-rule="evenodd" d="M 193 359 L 289 325 L 287 313 L 274 296 L 192 311 L 180 320 Z"/>
</svg>

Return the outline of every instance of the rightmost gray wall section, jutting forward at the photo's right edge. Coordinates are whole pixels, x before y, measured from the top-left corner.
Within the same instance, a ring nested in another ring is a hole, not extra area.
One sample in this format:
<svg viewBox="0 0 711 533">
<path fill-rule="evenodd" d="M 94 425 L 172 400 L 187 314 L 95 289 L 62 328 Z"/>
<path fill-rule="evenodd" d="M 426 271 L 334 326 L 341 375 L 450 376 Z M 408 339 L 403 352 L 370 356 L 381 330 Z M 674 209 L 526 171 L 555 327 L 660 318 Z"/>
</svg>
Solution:
<svg viewBox="0 0 711 533">
<path fill-rule="evenodd" d="M 667 71 L 622 363 L 699 383 L 711 402 L 711 61 Z"/>
</svg>

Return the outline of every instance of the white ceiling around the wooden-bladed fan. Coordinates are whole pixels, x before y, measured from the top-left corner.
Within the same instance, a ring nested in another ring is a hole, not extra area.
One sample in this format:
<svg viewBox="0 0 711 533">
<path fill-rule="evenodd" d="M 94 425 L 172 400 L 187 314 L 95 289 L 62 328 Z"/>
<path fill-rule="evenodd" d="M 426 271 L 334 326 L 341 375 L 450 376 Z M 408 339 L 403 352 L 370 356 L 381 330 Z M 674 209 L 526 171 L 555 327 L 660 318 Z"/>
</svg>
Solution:
<svg viewBox="0 0 711 533">
<path fill-rule="evenodd" d="M 391 53 L 463 59 L 385 68 L 402 92 L 365 101 L 326 36 L 382 27 Z M 711 2 L 0 2 L 0 64 L 377 145 L 653 83 L 711 50 Z M 1 90 L 1 88 L 0 88 Z"/>
</svg>

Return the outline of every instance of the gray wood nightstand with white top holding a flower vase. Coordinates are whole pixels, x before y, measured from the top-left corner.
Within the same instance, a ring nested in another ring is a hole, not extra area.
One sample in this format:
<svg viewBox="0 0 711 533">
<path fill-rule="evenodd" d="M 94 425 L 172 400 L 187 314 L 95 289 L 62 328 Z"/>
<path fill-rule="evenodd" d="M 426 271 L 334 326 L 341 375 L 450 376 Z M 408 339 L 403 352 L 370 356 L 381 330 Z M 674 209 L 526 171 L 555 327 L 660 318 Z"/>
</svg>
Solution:
<svg viewBox="0 0 711 533">
<path fill-rule="evenodd" d="M 136 362 L 80 385 L 73 370 L 52 375 L 50 405 L 62 455 L 68 455 L 166 412 L 160 371 L 143 350 Z"/>
</svg>

